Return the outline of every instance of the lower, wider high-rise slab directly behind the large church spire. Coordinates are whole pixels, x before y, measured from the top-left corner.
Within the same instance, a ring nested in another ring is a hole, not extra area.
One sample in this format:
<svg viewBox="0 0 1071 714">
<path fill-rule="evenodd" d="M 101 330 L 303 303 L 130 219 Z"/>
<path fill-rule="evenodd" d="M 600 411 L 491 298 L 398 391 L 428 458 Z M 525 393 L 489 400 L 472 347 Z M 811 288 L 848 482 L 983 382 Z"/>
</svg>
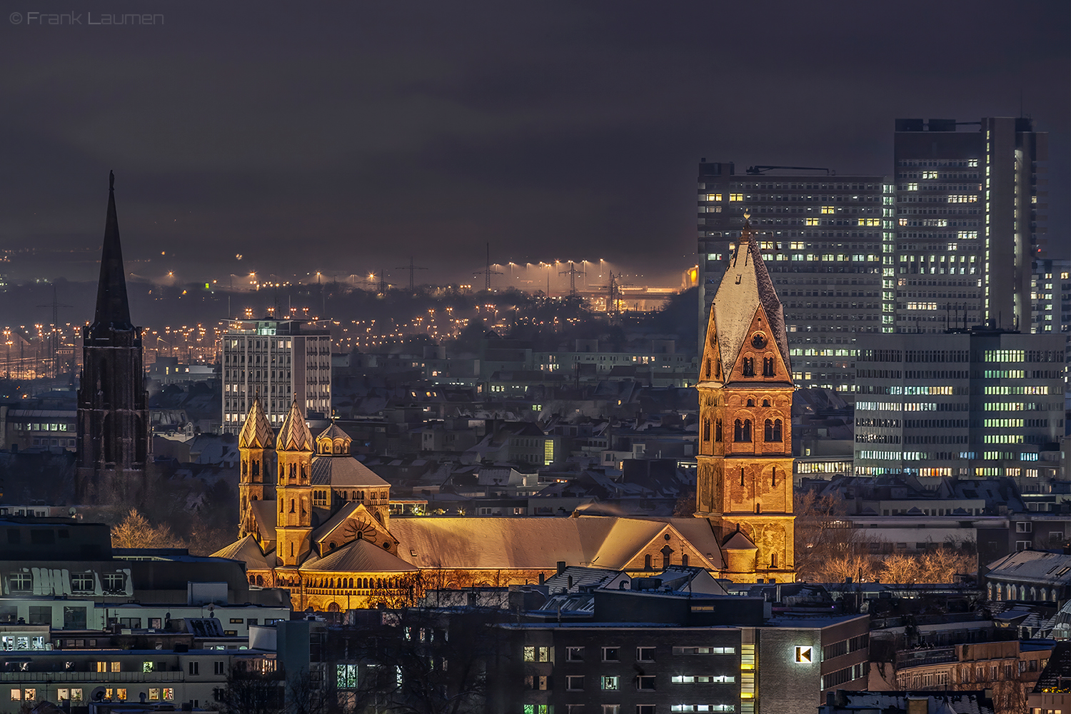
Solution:
<svg viewBox="0 0 1071 714">
<path fill-rule="evenodd" d="M 849 391 L 856 335 L 892 328 L 893 187 L 880 176 L 767 168 L 699 164 L 700 340 L 748 212 L 784 305 L 794 381 Z"/>
</svg>

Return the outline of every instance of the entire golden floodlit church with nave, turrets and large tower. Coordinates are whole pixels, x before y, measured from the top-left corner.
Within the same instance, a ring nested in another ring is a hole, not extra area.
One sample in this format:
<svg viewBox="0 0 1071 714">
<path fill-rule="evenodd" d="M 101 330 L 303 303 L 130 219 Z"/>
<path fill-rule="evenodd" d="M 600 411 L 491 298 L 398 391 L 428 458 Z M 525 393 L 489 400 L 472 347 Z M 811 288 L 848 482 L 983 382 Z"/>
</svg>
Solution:
<svg viewBox="0 0 1071 714">
<path fill-rule="evenodd" d="M 314 438 L 295 400 L 275 434 L 255 400 L 239 434 L 239 540 L 214 556 L 245 562 L 251 584 L 287 588 L 298 610 L 542 582 L 560 563 L 791 582 L 791 373 L 749 225 L 711 307 L 698 392 L 694 518 L 391 518 L 390 484 L 350 455 L 342 429 Z"/>
</svg>

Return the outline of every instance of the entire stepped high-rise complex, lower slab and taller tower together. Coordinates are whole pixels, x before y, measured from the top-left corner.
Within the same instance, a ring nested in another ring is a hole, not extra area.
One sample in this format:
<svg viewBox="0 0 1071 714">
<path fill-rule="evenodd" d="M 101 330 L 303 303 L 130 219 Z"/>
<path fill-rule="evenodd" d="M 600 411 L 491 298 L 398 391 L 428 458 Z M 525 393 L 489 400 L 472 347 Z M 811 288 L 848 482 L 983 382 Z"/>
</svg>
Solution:
<svg viewBox="0 0 1071 714">
<path fill-rule="evenodd" d="M 1028 329 L 1047 135 L 1024 118 L 897 119 L 895 130 L 884 178 L 700 162 L 700 337 L 745 211 L 784 302 L 800 386 L 851 391 L 860 333 L 942 332 L 946 313 Z"/>
</svg>

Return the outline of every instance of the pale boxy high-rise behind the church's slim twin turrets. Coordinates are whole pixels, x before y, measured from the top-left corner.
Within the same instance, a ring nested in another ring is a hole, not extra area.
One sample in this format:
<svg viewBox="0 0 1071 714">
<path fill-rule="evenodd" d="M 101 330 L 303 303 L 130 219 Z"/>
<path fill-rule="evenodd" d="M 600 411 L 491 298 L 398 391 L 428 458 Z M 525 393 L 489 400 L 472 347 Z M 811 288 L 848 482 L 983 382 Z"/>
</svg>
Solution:
<svg viewBox="0 0 1071 714">
<path fill-rule="evenodd" d="M 331 334 L 300 320 L 237 320 L 223 335 L 223 429 L 238 434 L 254 398 L 281 425 L 297 399 L 302 414 L 331 413 Z"/>
</svg>

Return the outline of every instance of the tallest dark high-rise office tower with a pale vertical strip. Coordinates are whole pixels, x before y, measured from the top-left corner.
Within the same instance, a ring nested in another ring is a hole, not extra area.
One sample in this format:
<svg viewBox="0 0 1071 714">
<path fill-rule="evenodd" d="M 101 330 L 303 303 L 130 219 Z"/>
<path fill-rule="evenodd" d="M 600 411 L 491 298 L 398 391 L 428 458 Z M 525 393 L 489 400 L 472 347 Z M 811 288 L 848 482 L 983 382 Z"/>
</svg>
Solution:
<svg viewBox="0 0 1071 714">
<path fill-rule="evenodd" d="M 895 130 L 896 332 L 941 332 L 949 308 L 968 324 L 1028 330 L 1047 134 L 1009 117 Z"/>
</svg>

